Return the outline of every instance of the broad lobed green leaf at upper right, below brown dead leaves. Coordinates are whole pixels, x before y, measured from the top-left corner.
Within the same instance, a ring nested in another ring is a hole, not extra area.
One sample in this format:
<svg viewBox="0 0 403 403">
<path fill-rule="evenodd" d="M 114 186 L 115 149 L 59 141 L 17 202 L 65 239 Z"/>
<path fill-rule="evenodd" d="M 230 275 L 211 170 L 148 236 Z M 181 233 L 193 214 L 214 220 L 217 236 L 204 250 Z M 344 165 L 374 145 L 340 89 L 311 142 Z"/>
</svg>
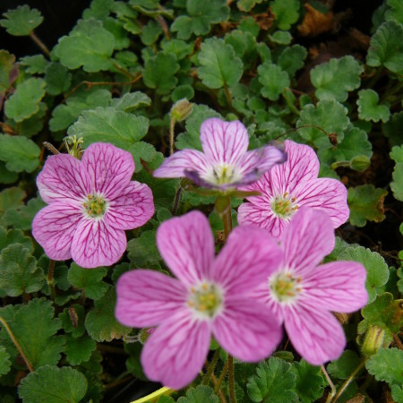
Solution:
<svg viewBox="0 0 403 403">
<path fill-rule="evenodd" d="M 360 86 L 360 75 L 364 68 L 353 56 L 330 59 L 311 70 L 311 81 L 318 99 L 336 99 L 344 102 L 348 91 Z"/>
</svg>

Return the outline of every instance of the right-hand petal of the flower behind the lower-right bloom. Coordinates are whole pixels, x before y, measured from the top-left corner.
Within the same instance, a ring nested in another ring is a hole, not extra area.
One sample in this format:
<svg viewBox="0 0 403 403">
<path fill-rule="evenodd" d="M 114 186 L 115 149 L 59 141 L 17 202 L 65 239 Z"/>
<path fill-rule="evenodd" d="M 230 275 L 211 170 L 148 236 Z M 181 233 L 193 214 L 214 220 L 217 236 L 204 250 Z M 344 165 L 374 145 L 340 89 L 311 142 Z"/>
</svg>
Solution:
<svg viewBox="0 0 403 403">
<path fill-rule="evenodd" d="M 298 184 L 292 195 L 300 206 L 313 207 L 325 211 L 337 228 L 344 224 L 350 211 L 347 206 L 347 189 L 337 179 L 319 178 Z"/>
</svg>

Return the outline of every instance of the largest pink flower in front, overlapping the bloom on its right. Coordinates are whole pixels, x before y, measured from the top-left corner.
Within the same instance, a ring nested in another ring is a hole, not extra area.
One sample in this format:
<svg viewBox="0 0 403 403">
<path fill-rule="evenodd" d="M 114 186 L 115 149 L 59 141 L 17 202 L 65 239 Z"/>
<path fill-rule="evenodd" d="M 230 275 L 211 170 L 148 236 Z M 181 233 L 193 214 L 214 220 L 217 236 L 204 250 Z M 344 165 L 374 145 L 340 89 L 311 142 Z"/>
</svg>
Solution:
<svg viewBox="0 0 403 403">
<path fill-rule="evenodd" d="M 277 319 L 248 295 L 279 262 L 279 248 L 261 228 L 236 227 L 219 256 L 208 219 L 192 211 L 157 232 L 159 252 L 177 279 L 153 270 L 124 273 L 116 285 L 116 318 L 158 326 L 141 352 L 152 381 L 180 389 L 200 372 L 211 334 L 242 361 L 269 356 L 279 343 Z"/>
</svg>

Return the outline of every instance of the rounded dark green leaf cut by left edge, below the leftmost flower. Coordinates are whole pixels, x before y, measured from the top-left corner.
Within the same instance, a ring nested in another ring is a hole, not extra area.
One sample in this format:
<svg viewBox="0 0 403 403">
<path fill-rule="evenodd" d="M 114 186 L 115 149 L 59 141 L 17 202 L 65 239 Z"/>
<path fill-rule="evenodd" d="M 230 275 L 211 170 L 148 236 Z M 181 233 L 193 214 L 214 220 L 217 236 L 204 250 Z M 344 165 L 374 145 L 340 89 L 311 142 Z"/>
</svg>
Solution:
<svg viewBox="0 0 403 403">
<path fill-rule="evenodd" d="M 22 244 L 10 244 L 0 255 L 0 288 L 7 296 L 39 291 L 45 282 L 43 270 Z"/>
</svg>

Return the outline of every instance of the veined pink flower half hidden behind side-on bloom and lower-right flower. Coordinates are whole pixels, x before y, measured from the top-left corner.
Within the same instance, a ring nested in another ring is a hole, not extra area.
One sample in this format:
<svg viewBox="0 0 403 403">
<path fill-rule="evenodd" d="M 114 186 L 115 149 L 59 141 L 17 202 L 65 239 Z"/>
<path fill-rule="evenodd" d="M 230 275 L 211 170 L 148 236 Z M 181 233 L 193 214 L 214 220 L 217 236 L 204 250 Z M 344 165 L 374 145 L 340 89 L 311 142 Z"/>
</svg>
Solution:
<svg viewBox="0 0 403 403">
<path fill-rule="evenodd" d="M 262 227 L 279 238 L 301 206 L 329 214 L 333 228 L 347 221 L 347 189 L 336 179 L 318 178 L 319 160 L 309 146 L 286 141 L 287 161 L 244 187 L 260 196 L 248 197 L 238 209 L 241 225 Z"/>
</svg>

